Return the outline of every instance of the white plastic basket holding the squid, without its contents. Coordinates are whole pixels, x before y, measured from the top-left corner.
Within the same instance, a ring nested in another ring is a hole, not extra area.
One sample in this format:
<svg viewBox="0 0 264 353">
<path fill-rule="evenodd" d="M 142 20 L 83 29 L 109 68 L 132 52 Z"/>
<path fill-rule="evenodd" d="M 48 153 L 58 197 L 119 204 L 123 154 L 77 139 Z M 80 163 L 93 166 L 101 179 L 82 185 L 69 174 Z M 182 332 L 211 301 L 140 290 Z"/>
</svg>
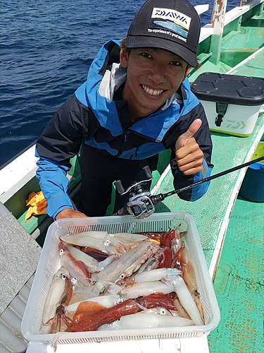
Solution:
<svg viewBox="0 0 264 353">
<path fill-rule="evenodd" d="M 27 301 L 22 321 L 22 333 L 24 337 L 31 342 L 51 343 L 54 339 L 54 334 L 41 335 L 39 332 L 42 326 L 44 303 L 49 292 L 52 277 L 56 273 L 56 270 L 61 267 L 58 253 L 59 237 L 69 233 L 75 234 L 91 230 L 106 231 L 108 233 L 167 231 L 169 227 L 175 229 L 180 223 L 182 224 L 181 230 L 187 230 L 185 244 L 194 263 L 205 325 L 151 328 L 145 330 L 100 330 L 80 333 L 60 333 L 58 343 L 182 338 L 197 337 L 210 333 L 220 321 L 220 311 L 194 219 L 187 213 L 156 213 L 145 220 L 135 220 L 132 216 L 111 216 L 76 218 L 54 222 L 48 229 L 42 256 L 39 260 L 30 297 Z"/>
</svg>

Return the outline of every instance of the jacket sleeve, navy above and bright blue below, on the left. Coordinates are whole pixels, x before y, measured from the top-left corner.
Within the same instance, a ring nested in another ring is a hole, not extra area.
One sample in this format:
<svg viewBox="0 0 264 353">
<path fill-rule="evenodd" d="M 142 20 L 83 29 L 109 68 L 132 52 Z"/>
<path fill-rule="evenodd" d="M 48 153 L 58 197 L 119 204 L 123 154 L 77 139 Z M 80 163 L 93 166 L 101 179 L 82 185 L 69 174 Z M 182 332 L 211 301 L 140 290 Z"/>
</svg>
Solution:
<svg viewBox="0 0 264 353">
<path fill-rule="evenodd" d="M 80 150 L 87 133 L 88 108 L 75 95 L 70 97 L 56 112 L 42 135 L 37 140 L 37 179 L 46 198 L 46 213 L 51 217 L 72 208 L 68 196 L 70 181 L 66 177 L 70 169 L 70 158 Z"/>
</svg>

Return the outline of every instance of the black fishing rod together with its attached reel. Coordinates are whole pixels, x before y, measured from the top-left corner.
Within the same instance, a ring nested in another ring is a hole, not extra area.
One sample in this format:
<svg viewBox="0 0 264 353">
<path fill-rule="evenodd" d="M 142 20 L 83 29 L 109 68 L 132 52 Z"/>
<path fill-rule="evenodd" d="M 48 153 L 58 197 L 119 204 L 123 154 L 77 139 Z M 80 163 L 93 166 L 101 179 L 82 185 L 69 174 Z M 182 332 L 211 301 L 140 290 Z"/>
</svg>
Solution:
<svg viewBox="0 0 264 353">
<path fill-rule="evenodd" d="M 129 194 L 127 204 L 123 208 L 118 210 L 118 212 L 115 213 L 115 215 L 132 215 L 134 218 L 137 218 L 137 219 L 149 217 L 150 215 L 152 215 L 152 213 L 155 210 L 154 205 L 156 205 L 157 203 L 160 203 L 168 196 L 175 195 L 175 193 L 176 194 L 182 193 L 183 191 L 187 191 L 189 189 L 194 188 L 194 186 L 222 177 L 223 175 L 229 174 L 231 172 L 235 172 L 238 169 L 248 167 L 249 165 L 260 162 L 261 160 L 264 160 L 264 156 L 259 157 L 256 160 L 251 160 L 250 162 L 240 164 L 237 167 L 227 169 L 224 172 L 220 172 L 218 174 L 212 175 L 211 177 L 201 179 L 199 181 L 196 181 L 193 184 L 184 186 L 183 188 L 175 189 L 168 193 L 158 193 L 158 195 L 151 195 L 150 191 L 145 190 L 143 187 L 144 184 L 146 184 L 146 182 L 151 181 L 151 179 L 153 178 L 149 166 L 146 166 L 143 169 L 146 173 L 146 177 L 148 177 L 149 179 L 142 180 L 142 181 L 134 181 L 134 183 L 126 191 L 122 187 L 122 183 L 120 180 L 115 181 L 115 187 L 121 196 L 125 195 L 125 193 Z"/>
</svg>

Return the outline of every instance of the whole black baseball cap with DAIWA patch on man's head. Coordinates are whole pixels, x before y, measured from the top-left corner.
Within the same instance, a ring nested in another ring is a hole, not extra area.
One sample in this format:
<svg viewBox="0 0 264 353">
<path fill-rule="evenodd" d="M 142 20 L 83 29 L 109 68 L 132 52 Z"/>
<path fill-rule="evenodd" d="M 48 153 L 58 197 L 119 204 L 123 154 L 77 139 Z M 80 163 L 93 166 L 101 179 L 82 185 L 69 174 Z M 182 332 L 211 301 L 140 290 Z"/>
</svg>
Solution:
<svg viewBox="0 0 264 353">
<path fill-rule="evenodd" d="M 196 66 L 201 23 L 194 6 L 186 0 L 148 0 L 127 32 L 125 47 L 158 48 Z"/>
</svg>

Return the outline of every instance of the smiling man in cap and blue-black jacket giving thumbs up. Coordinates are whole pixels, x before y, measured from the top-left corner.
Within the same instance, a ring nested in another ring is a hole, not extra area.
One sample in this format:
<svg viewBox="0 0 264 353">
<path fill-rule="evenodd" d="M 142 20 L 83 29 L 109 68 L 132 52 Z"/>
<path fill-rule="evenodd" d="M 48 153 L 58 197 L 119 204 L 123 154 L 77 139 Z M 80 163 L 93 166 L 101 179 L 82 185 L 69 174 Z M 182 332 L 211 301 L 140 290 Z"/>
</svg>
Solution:
<svg viewBox="0 0 264 353">
<path fill-rule="evenodd" d="M 122 42 L 103 45 L 87 81 L 37 140 L 37 177 L 49 215 L 105 215 L 113 181 L 127 189 L 146 179 L 143 168 L 154 170 L 158 153 L 167 149 L 176 189 L 210 175 L 208 122 L 187 78 L 196 66 L 199 34 L 199 16 L 189 2 L 149 0 Z M 75 210 L 66 173 L 79 150 L 82 189 Z M 196 201 L 207 189 L 204 183 L 179 196 Z M 116 193 L 114 212 L 125 203 L 127 197 Z"/>
</svg>

